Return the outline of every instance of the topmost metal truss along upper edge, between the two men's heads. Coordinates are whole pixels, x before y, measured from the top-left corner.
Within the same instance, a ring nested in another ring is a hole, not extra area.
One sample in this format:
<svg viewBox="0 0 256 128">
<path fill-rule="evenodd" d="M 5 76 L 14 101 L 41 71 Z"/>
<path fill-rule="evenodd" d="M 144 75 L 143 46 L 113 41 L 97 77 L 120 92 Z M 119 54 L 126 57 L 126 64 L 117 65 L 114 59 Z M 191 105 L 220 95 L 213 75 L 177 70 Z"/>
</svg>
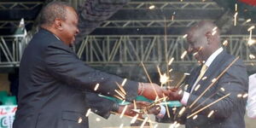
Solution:
<svg viewBox="0 0 256 128">
<path fill-rule="evenodd" d="M 217 3 L 212 1 L 202 2 L 130 2 L 123 9 L 148 9 L 154 5 L 154 9 L 223 9 Z"/>
</svg>

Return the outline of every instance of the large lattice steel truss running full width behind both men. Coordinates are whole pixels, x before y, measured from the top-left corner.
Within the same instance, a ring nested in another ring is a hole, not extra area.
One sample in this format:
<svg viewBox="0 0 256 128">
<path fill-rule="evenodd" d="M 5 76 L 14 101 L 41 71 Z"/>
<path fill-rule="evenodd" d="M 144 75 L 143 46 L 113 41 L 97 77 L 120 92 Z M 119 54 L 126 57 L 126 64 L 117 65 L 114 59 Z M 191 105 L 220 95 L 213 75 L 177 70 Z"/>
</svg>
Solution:
<svg viewBox="0 0 256 128">
<path fill-rule="evenodd" d="M 18 67 L 30 38 L 29 35 L 0 36 L 0 67 Z M 240 56 L 247 65 L 256 64 L 256 60 L 249 57 L 250 54 L 256 55 L 256 52 L 255 48 L 252 50 L 247 45 L 248 36 L 225 35 L 221 38 L 228 41 L 225 49 L 230 54 Z M 182 35 L 88 36 L 77 50 L 77 55 L 92 66 L 138 65 L 141 61 L 155 65 L 166 63 L 172 57 L 174 64 L 194 64 L 196 61 L 192 56 L 185 55 L 181 59 L 185 46 Z"/>
</svg>

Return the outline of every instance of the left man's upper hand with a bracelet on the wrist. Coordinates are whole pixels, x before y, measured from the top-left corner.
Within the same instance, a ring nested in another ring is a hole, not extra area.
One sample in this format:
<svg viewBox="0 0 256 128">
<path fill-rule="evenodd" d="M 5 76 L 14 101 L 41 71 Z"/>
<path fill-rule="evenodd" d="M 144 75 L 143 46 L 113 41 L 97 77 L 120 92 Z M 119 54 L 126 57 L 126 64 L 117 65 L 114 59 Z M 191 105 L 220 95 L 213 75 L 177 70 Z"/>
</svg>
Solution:
<svg viewBox="0 0 256 128">
<path fill-rule="evenodd" d="M 145 96 L 149 100 L 154 100 L 156 96 L 163 97 L 169 94 L 169 91 L 160 88 L 158 84 L 154 83 L 140 83 L 138 89 L 138 94 Z"/>
</svg>

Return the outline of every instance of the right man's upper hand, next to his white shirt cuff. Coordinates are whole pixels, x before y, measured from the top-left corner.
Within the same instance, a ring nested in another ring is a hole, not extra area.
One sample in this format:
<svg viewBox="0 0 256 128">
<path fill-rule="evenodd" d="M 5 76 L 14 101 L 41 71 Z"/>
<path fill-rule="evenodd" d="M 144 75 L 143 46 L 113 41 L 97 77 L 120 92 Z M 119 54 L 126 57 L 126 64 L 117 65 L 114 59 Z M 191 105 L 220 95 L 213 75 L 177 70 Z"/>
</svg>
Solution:
<svg viewBox="0 0 256 128">
<path fill-rule="evenodd" d="M 183 98 L 183 90 L 172 88 L 168 90 L 169 101 L 180 101 Z"/>
</svg>

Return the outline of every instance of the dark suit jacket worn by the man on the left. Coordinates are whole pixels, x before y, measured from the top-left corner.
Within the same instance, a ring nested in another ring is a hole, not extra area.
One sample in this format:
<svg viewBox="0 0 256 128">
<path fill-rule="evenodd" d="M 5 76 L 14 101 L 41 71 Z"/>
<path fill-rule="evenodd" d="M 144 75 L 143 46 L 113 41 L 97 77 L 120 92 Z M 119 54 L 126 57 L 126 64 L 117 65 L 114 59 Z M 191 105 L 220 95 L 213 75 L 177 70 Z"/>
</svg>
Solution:
<svg viewBox="0 0 256 128">
<path fill-rule="evenodd" d="M 20 61 L 19 103 L 14 128 L 86 128 L 84 90 L 116 95 L 123 79 L 85 66 L 70 47 L 41 29 Z M 137 96 L 137 82 L 124 86 L 126 100 Z M 79 119 L 83 119 L 78 123 Z"/>
</svg>

